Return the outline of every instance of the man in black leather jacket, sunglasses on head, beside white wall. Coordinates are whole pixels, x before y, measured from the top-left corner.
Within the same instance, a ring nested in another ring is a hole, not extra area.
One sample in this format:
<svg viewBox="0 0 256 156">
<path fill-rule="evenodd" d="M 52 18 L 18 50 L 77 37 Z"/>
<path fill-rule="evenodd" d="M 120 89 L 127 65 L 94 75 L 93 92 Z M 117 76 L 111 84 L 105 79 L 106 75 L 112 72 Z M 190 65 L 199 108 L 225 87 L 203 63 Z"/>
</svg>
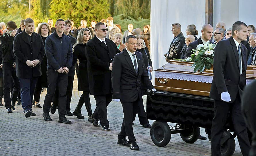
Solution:
<svg viewBox="0 0 256 156">
<path fill-rule="evenodd" d="M 181 32 L 181 25 L 179 23 L 173 23 L 172 33 L 174 35 L 173 41 L 171 42 L 168 53 L 165 54 L 165 60 L 169 62 L 172 59 L 180 58 L 182 47 L 185 43 L 185 37 Z"/>
</svg>

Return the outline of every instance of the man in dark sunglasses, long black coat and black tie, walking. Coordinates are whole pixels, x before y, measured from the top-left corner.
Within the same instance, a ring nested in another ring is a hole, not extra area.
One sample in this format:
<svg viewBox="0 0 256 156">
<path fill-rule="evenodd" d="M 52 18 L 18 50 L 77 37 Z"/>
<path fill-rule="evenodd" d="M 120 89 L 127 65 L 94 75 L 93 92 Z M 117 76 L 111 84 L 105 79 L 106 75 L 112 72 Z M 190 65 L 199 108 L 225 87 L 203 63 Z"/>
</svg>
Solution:
<svg viewBox="0 0 256 156">
<path fill-rule="evenodd" d="M 107 106 L 112 101 L 111 71 L 112 60 L 120 51 L 116 44 L 105 38 L 108 29 L 102 22 L 95 25 L 95 37 L 86 45 L 89 88 L 94 95 L 96 108 L 92 115 L 93 125 L 100 126 L 104 131 L 110 131 Z"/>
</svg>

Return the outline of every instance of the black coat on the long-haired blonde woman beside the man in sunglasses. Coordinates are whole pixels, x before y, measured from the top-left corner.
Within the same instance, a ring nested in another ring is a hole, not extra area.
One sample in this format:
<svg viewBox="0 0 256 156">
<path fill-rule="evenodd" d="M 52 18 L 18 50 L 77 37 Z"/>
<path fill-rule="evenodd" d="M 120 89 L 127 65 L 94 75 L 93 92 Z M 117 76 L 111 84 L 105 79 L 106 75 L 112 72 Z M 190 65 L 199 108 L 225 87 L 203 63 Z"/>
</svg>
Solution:
<svg viewBox="0 0 256 156">
<path fill-rule="evenodd" d="M 74 67 L 77 59 L 79 59 L 79 66 L 77 71 L 77 82 L 79 91 L 89 92 L 89 79 L 87 72 L 87 59 L 85 55 L 86 43 L 79 43 L 74 47 L 73 51 L 73 62 L 72 67 Z"/>
</svg>

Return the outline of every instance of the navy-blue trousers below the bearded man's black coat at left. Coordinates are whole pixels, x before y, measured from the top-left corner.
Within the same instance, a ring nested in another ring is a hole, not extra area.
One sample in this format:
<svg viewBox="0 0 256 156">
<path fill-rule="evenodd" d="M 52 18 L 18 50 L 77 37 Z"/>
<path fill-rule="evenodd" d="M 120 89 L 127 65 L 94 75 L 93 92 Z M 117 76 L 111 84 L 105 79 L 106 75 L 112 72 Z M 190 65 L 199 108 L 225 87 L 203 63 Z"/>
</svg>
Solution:
<svg viewBox="0 0 256 156">
<path fill-rule="evenodd" d="M 32 109 L 32 100 L 38 77 L 20 78 L 20 97 L 23 111 Z"/>
</svg>

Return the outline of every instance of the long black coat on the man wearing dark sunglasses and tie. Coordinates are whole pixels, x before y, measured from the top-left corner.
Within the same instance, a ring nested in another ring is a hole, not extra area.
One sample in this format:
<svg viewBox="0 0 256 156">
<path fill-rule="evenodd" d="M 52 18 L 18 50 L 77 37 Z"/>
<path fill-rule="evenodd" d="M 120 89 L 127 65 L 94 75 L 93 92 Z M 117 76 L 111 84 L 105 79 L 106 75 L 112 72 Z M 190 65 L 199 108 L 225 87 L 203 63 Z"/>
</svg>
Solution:
<svg viewBox="0 0 256 156">
<path fill-rule="evenodd" d="M 114 55 L 120 51 L 116 44 L 105 38 L 106 45 L 96 37 L 86 45 L 85 55 L 89 74 L 89 88 L 91 95 L 108 95 L 112 93 L 111 70 L 108 70 Z"/>
</svg>

